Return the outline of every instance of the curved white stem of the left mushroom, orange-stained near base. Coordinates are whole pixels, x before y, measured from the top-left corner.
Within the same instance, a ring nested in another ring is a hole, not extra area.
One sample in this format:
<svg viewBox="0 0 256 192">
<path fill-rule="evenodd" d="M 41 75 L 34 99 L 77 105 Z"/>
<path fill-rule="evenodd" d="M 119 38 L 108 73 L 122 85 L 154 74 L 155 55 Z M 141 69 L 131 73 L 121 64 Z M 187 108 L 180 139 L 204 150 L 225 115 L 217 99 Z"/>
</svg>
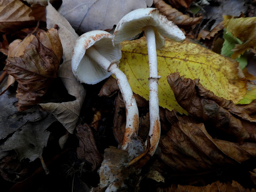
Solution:
<svg viewBox="0 0 256 192">
<path fill-rule="evenodd" d="M 93 46 L 86 50 L 86 54 L 100 64 L 105 70 L 112 72 L 116 76 L 117 84 L 122 93 L 124 104 L 126 106 L 126 128 L 121 149 L 128 150 L 127 147 L 129 143 L 132 143 L 132 137 L 136 136 L 138 133 L 139 111 L 127 77 L 118 68 L 119 61 L 114 60 L 110 62 Z"/>
</svg>

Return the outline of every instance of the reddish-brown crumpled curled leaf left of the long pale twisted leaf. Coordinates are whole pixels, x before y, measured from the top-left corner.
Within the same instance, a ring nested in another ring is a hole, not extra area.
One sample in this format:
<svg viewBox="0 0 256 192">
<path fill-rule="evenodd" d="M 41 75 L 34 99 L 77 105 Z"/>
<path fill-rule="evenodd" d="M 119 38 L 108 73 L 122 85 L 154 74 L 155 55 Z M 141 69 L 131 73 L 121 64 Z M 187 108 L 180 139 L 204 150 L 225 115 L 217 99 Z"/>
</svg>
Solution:
<svg viewBox="0 0 256 192">
<path fill-rule="evenodd" d="M 39 103 L 53 78 L 57 77 L 62 45 L 56 29 L 38 33 L 20 57 L 6 59 L 4 70 L 18 81 L 18 110 Z"/>
</svg>

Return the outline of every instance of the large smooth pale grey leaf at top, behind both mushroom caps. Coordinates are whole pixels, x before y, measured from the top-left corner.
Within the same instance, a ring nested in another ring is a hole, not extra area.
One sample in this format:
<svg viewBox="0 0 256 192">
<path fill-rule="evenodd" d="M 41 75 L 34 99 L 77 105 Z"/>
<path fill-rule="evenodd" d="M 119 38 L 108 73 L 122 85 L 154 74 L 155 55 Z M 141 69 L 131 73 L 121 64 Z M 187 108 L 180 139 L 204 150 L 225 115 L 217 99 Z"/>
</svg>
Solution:
<svg viewBox="0 0 256 192">
<path fill-rule="evenodd" d="M 90 0 L 63 1 L 58 9 L 78 33 L 112 29 L 121 18 L 134 9 L 150 7 L 148 0 Z M 114 13 L 114 14 L 113 14 Z"/>
</svg>

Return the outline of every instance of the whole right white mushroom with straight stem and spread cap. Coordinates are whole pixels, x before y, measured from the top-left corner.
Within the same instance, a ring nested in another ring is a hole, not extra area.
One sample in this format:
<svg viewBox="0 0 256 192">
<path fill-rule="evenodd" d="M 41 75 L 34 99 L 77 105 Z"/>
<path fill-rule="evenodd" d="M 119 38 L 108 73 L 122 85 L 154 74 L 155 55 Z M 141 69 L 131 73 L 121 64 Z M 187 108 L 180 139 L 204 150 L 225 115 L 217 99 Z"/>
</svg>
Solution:
<svg viewBox="0 0 256 192">
<path fill-rule="evenodd" d="M 148 57 L 149 57 L 149 115 L 150 115 L 150 154 L 155 153 L 160 139 L 160 118 L 158 100 L 158 70 L 156 49 L 163 49 L 165 46 L 164 37 L 173 39 L 176 42 L 183 42 L 185 35 L 175 23 L 168 20 L 158 9 L 142 8 L 129 12 L 117 24 L 113 34 L 113 44 L 141 33 L 144 30 L 146 35 Z M 164 36 L 164 37 L 163 37 Z"/>
</svg>

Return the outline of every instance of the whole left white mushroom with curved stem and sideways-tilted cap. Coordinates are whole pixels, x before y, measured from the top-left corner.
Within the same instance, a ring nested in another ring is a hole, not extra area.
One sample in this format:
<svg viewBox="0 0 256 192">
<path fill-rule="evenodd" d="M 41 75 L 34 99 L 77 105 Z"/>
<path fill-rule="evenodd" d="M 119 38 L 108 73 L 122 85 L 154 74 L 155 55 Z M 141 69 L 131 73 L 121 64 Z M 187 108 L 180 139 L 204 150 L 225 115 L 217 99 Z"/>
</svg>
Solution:
<svg viewBox="0 0 256 192">
<path fill-rule="evenodd" d="M 128 150 L 129 142 L 138 132 L 139 112 L 126 75 L 118 68 L 122 57 L 120 45 L 113 47 L 111 40 L 112 35 L 106 31 L 82 34 L 75 42 L 71 65 L 76 78 L 87 84 L 95 84 L 110 76 L 110 73 L 116 76 L 126 106 L 126 129 L 121 149 Z M 102 75 L 107 71 L 110 72 L 108 75 Z"/>
</svg>

